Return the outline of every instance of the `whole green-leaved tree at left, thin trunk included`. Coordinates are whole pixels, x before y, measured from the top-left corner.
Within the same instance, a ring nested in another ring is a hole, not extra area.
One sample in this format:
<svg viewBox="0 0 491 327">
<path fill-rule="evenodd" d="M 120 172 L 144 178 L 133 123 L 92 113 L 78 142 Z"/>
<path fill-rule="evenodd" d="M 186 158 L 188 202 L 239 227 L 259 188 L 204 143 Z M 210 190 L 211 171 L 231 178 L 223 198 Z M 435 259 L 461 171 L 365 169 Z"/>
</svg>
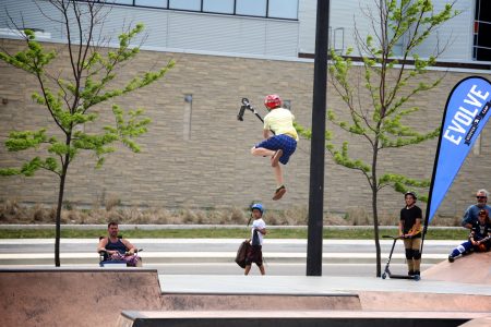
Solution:
<svg viewBox="0 0 491 327">
<path fill-rule="evenodd" d="M 52 126 L 37 131 L 11 132 L 5 146 L 9 152 L 36 149 L 38 156 L 27 160 L 20 168 L 0 169 L 2 175 L 33 175 L 44 169 L 59 178 L 58 207 L 56 214 L 55 265 L 60 266 L 60 225 L 65 179 L 70 164 L 82 150 L 92 152 L 96 157 L 95 167 L 101 167 L 106 155 L 116 150 L 112 146 L 120 142 L 134 153 L 140 152 L 135 138 L 146 133 L 149 119 L 144 117 L 143 109 L 123 110 L 116 104 L 108 104 L 117 97 L 145 87 L 159 78 L 172 68 L 173 61 L 167 62 L 155 72 L 134 74 L 129 81 L 118 81 L 122 87 L 116 86 L 119 68 L 131 62 L 139 53 L 140 47 L 133 46 L 135 37 L 142 33 L 143 25 L 136 24 L 119 36 L 119 47 L 103 49 L 101 39 L 96 35 L 107 15 L 105 1 L 49 1 L 53 11 L 61 14 L 61 23 L 67 35 L 69 72 L 60 73 L 55 62 L 61 57 L 53 50 L 47 50 L 35 38 L 35 33 L 22 29 L 26 47 L 10 55 L 0 52 L 4 62 L 33 75 L 39 85 L 39 92 L 33 94 L 33 100 L 44 108 L 50 117 Z M 39 8 L 40 9 L 40 8 Z M 45 15 L 47 16 L 47 15 Z M 100 29 L 101 31 L 101 29 Z M 97 107 L 96 107 L 97 106 Z M 79 125 L 94 124 L 98 114 L 95 108 L 112 110 L 113 125 L 103 126 L 94 133 L 86 133 Z M 51 132 L 52 130 L 57 132 Z M 50 132 L 48 132 L 50 131 Z"/>
</svg>

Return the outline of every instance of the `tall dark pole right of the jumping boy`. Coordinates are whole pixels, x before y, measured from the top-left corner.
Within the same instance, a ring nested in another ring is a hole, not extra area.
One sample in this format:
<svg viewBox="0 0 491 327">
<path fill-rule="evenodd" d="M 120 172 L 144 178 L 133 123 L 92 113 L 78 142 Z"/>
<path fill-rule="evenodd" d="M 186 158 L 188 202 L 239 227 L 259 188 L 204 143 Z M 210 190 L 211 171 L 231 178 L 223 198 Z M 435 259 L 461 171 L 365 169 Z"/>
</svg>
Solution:
<svg viewBox="0 0 491 327">
<path fill-rule="evenodd" d="M 324 207 L 324 154 L 327 86 L 330 1 L 318 0 L 315 60 L 310 154 L 309 231 L 307 276 L 322 276 L 322 230 Z"/>
</svg>

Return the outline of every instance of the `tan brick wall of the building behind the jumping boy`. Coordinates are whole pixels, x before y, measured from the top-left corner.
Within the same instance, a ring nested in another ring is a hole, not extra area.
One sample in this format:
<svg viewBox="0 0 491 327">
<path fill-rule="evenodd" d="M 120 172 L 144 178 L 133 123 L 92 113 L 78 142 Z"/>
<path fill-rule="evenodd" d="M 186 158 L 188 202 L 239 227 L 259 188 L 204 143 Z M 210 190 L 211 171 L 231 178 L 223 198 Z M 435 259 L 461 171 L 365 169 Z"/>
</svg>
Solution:
<svg viewBox="0 0 491 327">
<path fill-rule="evenodd" d="M 0 44 L 9 51 L 22 46 L 8 39 Z M 49 47 L 61 48 L 60 45 Z M 163 207 L 246 207 L 251 201 L 259 199 L 268 208 L 307 206 L 310 143 L 300 141 L 297 153 L 284 169 L 289 192 L 280 202 L 273 202 L 275 182 L 270 160 L 250 155 L 250 148 L 261 138 L 262 125 L 251 112 L 246 113 L 243 122 L 237 121 L 236 117 L 242 97 L 248 97 L 264 116 L 264 95 L 277 93 L 291 100 L 292 111 L 301 124 L 311 125 L 313 63 L 142 51 L 121 71 L 122 77 L 118 81 L 135 71 L 161 66 L 170 58 L 177 61 L 176 68 L 161 81 L 117 101 L 124 109 L 143 107 L 151 117 L 149 132 L 139 141 L 143 152 L 135 155 L 118 147 L 98 170 L 94 170 L 92 154 L 80 155 L 70 167 L 65 199 L 92 205 L 113 197 L 124 205 Z M 431 72 L 428 76 L 441 74 Z M 448 93 L 468 75 L 448 72 L 435 90 L 418 96 L 415 105 L 421 110 L 408 123 L 422 131 L 436 128 Z M 52 125 L 46 109 L 31 100 L 32 92 L 37 90 L 34 78 L 3 62 L 0 62 L 0 97 L 9 100 L 7 105 L 0 102 L 2 144 L 11 130 Z M 183 135 L 185 94 L 193 95 L 189 141 Z M 332 88 L 327 102 L 333 109 L 343 106 Z M 104 124 L 112 122 L 110 102 L 97 111 Z M 87 124 L 85 129 L 97 128 Z M 474 202 L 477 189 L 491 189 L 490 134 L 491 124 L 488 124 L 481 134 L 480 155 L 469 155 L 440 214 L 460 216 Z M 339 143 L 347 137 L 346 134 L 336 135 Z M 367 144 L 360 140 L 349 142 L 354 154 L 367 154 Z M 436 140 L 382 153 L 380 164 L 387 171 L 405 172 L 410 178 L 430 178 L 435 147 Z M 19 166 L 24 158 L 28 156 L 7 153 L 4 146 L 0 147 L 0 167 Z M 0 183 L 0 199 L 32 203 L 55 203 L 57 199 L 58 180 L 47 172 L 39 172 L 34 178 L 1 178 Z M 328 155 L 324 198 L 325 210 L 371 208 L 371 193 L 364 177 L 334 165 Z M 403 204 L 400 195 L 390 189 L 382 190 L 379 198 L 380 209 L 386 213 L 397 213 Z"/>
</svg>

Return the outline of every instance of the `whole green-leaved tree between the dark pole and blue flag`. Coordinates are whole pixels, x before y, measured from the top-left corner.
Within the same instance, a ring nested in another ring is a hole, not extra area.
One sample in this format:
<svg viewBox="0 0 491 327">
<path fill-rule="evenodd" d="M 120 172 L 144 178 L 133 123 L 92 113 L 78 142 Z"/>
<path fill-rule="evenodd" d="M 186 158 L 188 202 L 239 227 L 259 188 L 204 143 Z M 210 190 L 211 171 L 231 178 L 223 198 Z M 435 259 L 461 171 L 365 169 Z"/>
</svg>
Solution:
<svg viewBox="0 0 491 327">
<path fill-rule="evenodd" d="M 327 111 L 327 121 L 354 138 L 368 143 L 367 157 L 349 153 L 348 142 L 334 145 L 333 132 L 326 132 L 326 149 L 335 164 L 359 171 L 367 179 L 372 194 L 372 215 L 376 247 L 376 276 L 381 276 L 381 250 L 379 242 L 378 193 L 392 186 L 397 192 L 415 187 L 428 187 L 429 181 L 418 181 L 396 172 L 381 172 L 379 155 L 394 148 L 410 146 L 434 138 L 440 128 L 420 133 L 405 125 L 404 120 L 419 110 L 411 105 L 415 96 L 436 87 L 443 76 L 430 80 L 427 69 L 436 63 L 442 49 L 423 59 L 417 55 L 420 46 L 439 26 L 458 14 L 453 3 L 434 12 L 430 0 L 374 0 L 373 11 L 366 11 L 372 22 L 366 38 L 356 29 L 356 45 L 361 53 L 360 76 L 350 58 L 331 51 L 330 80 L 335 93 L 346 105 L 338 112 L 347 112 L 348 121 L 337 118 L 334 110 Z M 376 12 L 375 14 L 373 12 Z M 402 46 L 400 46 L 402 45 Z M 396 50 L 400 53 L 395 56 Z M 410 66 L 409 66 L 410 65 Z M 361 81 L 360 81 L 361 80 Z M 416 81 L 416 83 L 410 83 Z M 369 100 L 367 100 L 369 99 Z M 298 126 L 300 134 L 310 138 L 308 129 Z M 426 201 L 424 196 L 419 198 Z"/>
</svg>

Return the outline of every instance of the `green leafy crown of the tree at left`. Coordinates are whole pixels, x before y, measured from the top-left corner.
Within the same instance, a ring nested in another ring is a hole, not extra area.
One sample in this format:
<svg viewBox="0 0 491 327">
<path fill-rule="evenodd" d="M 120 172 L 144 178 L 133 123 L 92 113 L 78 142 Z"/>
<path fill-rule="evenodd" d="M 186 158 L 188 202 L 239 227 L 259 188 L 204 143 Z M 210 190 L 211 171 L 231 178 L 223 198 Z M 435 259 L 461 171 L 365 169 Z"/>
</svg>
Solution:
<svg viewBox="0 0 491 327">
<path fill-rule="evenodd" d="M 141 150 L 135 138 L 146 133 L 151 123 L 141 108 L 125 112 L 120 106 L 111 105 L 115 125 L 104 126 L 98 133 L 85 133 L 84 129 L 77 126 L 96 123 L 99 116 L 91 112 L 96 105 L 107 107 L 108 100 L 155 83 L 175 65 L 173 60 L 170 60 L 158 71 L 144 72 L 141 76 L 130 78 L 120 88 L 110 85 L 118 76 L 117 68 L 139 53 L 140 48 L 130 45 L 143 28 L 143 24 L 137 24 L 128 33 L 122 33 L 119 36 L 119 48 L 109 50 L 106 55 L 93 47 L 91 55 L 82 59 L 77 56 L 82 56 L 83 51 L 79 52 L 69 47 L 71 64 L 76 69 L 72 76 L 51 77 L 55 83 L 47 82 L 48 76 L 56 75 L 48 74 L 48 65 L 57 59 L 56 52 L 45 50 L 43 45 L 36 41 L 32 31 L 25 31 L 26 49 L 13 56 L 0 52 L 0 60 L 37 77 L 40 90 L 33 93 L 32 98 L 47 109 L 56 125 L 64 134 L 62 140 L 59 140 L 60 135 L 47 136 L 46 128 L 36 132 L 11 132 L 5 142 L 10 152 L 29 148 L 40 150 L 43 149 L 40 145 L 46 144 L 44 148 L 46 158 L 36 156 L 21 168 L 0 170 L 0 174 L 33 175 L 38 169 L 46 169 L 61 175 L 65 173 L 65 170 L 61 169 L 63 165 L 68 167 L 80 150 L 93 152 L 98 168 L 104 164 L 105 155 L 116 150 L 113 147 L 116 142 L 122 143 L 134 153 Z M 92 46 L 87 44 L 85 47 Z"/>
</svg>

